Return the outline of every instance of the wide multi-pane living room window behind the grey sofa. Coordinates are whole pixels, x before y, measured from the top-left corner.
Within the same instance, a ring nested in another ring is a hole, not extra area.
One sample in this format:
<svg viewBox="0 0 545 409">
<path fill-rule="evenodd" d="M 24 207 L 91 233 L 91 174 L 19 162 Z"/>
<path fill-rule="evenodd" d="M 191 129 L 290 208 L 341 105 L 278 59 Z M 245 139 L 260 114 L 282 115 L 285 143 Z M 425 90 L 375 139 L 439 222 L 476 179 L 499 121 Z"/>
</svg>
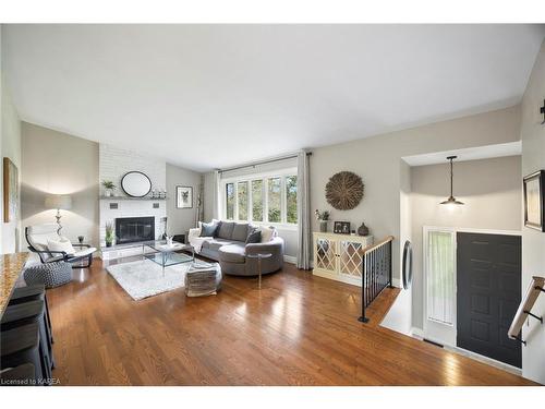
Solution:
<svg viewBox="0 0 545 409">
<path fill-rule="evenodd" d="M 228 220 L 296 226 L 295 169 L 223 181 L 223 217 Z"/>
</svg>

